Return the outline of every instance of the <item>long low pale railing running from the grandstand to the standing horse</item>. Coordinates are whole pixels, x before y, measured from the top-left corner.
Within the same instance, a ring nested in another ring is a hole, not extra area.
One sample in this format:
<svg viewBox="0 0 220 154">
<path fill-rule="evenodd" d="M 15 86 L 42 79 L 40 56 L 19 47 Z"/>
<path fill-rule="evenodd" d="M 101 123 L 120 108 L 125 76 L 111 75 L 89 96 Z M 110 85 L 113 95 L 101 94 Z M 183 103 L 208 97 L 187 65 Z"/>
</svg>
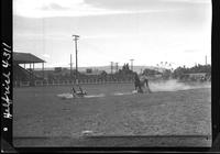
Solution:
<svg viewBox="0 0 220 154">
<path fill-rule="evenodd" d="M 101 84 L 131 84 L 132 79 L 128 80 L 99 80 L 99 79 L 84 79 L 79 80 L 81 85 L 101 85 Z M 41 87 L 41 86 L 70 86 L 73 80 L 34 80 L 34 81 L 14 81 L 13 87 Z"/>
</svg>

